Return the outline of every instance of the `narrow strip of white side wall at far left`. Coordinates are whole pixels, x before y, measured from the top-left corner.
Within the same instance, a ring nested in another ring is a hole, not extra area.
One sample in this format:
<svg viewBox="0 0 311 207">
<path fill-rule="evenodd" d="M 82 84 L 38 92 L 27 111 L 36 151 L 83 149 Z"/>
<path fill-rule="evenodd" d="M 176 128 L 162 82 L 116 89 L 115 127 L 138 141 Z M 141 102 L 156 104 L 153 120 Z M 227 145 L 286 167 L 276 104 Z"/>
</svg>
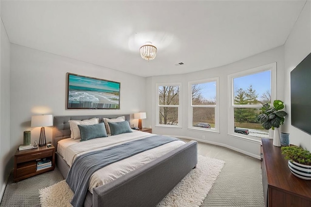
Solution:
<svg viewBox="0 0 311 207">
<path fill-rule="evenodd" d="M 10 42 L 2 20 L 0 26 L 0 200 L 10 167 Z"/>
</svg>

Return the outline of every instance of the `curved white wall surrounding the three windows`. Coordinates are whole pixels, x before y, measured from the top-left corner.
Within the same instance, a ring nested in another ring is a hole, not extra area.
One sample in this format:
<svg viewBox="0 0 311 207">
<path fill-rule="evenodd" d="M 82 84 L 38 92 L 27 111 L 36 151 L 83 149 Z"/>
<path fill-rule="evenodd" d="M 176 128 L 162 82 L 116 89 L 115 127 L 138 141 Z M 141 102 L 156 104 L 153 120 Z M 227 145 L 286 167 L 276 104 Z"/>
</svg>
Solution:
<svg viewBox="0 0 311 207">
<path fill-rule="evenodd" d="M 151 120 L 153 133 L 176 135 L 190 137 L 196 140 L 207 141 L 209 143 L 219 144 L 229 147 L 247 155 L 258 157 L 260 155 L 260 142 L 250 141 L 241 138 L 230 137 L 227 135 L 228 120 L 228 83 L 227 75 L 236 73 L 245 69 L 252 69 L 269 63 L 277 62 L 277 99 L 284 100 L 284 48 L 283 46 L 276 49 L 262 52 L 235 63 L 214 69 L 206 69 L 199 72 L 193 72 L 181 75 L 156 76 L 147 79 L 147 113 L 153 115 Z M 220 133 L 199 132 L 188 130 L 188 82 L 200 79 L 220 78 Z M 164 128 L 155 127 L 155 97 L 156 83 L 182 82 L 182 128 Z M 150 120 L 149 120 L 150 121 Z M 202 136 L 206 136 L 206 140 Z"/>
</svg>

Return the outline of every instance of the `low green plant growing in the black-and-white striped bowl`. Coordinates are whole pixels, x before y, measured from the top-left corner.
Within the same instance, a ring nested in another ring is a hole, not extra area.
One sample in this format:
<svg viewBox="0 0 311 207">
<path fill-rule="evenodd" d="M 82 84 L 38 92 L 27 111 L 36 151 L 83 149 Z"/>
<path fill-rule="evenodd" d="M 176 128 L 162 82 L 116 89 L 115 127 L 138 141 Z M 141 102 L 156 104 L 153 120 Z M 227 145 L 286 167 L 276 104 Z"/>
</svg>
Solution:
<svg viewBox="0 0 311 207">
<path fill-rule="evenodd" d="M 303 165 L 311 165 L 311 153 L 298 146 L 281 147 L 282 155 L 285 159 L 297 162 Z"/>
</svg>

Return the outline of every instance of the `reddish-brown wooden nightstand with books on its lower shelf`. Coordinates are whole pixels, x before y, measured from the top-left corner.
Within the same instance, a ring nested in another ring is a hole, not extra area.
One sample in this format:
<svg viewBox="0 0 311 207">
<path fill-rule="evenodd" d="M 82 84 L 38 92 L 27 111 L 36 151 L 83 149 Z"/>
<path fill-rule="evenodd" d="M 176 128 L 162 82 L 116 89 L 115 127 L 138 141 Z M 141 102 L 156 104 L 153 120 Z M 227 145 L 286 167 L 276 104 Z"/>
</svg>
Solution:
<svg viewBox="0 0 311 207">
<path fill-rule="evenodd" d="M 37 171 L 36 160 L 47 158 L 52 162 L 52 166 Z M 14 181 L 17 182 L 36 174 L 52 171 L 55 168 L 55 147 L 42 146 L 31 150 L 16 151 L 14 162 Z"/>
</svg>

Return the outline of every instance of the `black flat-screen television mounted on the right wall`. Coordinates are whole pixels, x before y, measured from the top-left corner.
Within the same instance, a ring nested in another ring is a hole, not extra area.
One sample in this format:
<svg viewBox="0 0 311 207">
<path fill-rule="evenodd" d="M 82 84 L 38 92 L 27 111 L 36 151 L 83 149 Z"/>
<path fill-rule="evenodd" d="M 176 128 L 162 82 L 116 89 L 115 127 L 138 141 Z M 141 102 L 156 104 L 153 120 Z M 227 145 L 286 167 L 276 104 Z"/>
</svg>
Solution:
<svg viewBox="0 0 311 207">
<path fill-rule="evenodd" d="M 311 53 L 291 72 L 291 120 L 311 134 Z"/>
</svg>

